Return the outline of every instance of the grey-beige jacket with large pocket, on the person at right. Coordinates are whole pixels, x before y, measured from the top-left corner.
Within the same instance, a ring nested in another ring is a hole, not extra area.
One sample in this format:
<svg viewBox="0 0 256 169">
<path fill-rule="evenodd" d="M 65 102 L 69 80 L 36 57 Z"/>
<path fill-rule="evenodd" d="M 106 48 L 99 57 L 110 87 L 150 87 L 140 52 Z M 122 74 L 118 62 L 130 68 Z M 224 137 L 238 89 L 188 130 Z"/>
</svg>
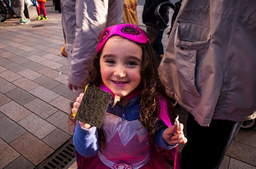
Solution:
<svg viewBox="0 0 256 169">
<path fill-rule="evenodd" d="M 256 117 L 256 1 L 184 0 L 159 66 L 202 126 Z"/>
</svg>

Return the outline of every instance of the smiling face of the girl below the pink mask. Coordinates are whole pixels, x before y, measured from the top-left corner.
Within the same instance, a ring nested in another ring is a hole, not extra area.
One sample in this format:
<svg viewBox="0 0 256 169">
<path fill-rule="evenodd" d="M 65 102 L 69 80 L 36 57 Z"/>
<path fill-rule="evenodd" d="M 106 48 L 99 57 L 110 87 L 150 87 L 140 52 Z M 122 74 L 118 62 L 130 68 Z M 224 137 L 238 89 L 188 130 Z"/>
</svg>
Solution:
<svg viewBox="0 0 256 169">
<path fill-rule="evenodd" d="M 142 49 L 131 40 L 113 36 L 100 55 L 104 84 L 118 96 L 128 95 L 140 84 Z"/>
</svg>

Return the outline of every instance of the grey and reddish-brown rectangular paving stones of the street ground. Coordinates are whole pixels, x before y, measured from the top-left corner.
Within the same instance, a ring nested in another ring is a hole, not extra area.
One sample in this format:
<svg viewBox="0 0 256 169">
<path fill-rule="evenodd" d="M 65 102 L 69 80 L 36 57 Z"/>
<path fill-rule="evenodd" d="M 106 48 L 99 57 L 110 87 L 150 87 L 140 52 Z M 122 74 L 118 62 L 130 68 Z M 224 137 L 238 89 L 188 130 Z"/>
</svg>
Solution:
<svg viewBox="0 0 256 169">
<path fill-rule="evenodd" d="M 140 24 L 143 4 L 139 0 Z M 45 6 L 48 20 L 30 18 L 20 25 L 12 18 L 0 24 L 0 168 L 37 168 L 73 136 L 68 104 L 77 94 L 67 87 L 68 62 L 60 53 L 61 13 L 52 1 Z M 167 40 L 164 35 L 164 47 Z M 187 111 L 179 108 L 177 114 L 185 124 Z M 255 169 L 255 138 L 256 128 L 239 130 L 220 168 Z"/>
</svg>

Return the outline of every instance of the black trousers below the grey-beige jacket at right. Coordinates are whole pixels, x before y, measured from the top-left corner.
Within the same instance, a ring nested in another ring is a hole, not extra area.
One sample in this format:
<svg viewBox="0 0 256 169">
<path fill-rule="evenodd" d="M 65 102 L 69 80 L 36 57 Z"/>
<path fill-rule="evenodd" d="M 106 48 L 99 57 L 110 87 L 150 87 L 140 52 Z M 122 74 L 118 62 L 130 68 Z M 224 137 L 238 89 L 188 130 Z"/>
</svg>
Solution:
<svg viewBox="0 0 256 169">
<path fill-rule="evenodd" d="M 182 169 L 219 168 L 242 122 L 212 119 L 200 126 L 188 113 L 187 144 L 182 149 Z"/>
</svg>

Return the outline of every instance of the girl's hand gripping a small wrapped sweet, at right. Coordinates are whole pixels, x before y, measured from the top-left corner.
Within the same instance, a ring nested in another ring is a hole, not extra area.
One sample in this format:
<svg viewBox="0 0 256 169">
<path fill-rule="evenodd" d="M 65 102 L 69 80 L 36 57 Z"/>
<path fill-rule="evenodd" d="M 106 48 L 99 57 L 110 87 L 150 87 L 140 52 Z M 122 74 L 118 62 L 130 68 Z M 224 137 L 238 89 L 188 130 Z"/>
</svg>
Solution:
<svg viewBox="0 0 256 169">
<path fill-rule="evenodd" d="M 164 141 L 169 145 L 175 145 L 175 144 L 185 144 L 187 143 L 187 138 L 183 134 L 183 124 L 179 124 L 179 128 L 177 130 L 177 134 L 174 135 L 174 125 L 171 127 L 168 127 L 163 132 L 163 138 Z"/>
</svg>

